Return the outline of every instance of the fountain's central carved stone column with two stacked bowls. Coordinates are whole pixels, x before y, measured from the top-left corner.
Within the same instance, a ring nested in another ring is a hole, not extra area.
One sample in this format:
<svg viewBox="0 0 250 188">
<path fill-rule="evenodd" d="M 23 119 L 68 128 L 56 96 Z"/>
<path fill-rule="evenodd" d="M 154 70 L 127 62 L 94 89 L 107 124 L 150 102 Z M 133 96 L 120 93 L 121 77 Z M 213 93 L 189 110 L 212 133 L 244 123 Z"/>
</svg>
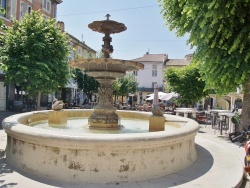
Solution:
<svg viewBox="0 0 250 188">
<path fill-rule="evenodd" d="M 94 112 L 89 118 L 89 128 L 95 129 L 120 129 L 120 118 L 116 114 L 116 108 L 113 106 L 112 82 L 126 74 L 126 71 L 143 69 L 144 65 L 134 61 L 125 61 L 111 59 L 110 53 L 113 52 L 113 46 L 110 45 L 112 38 L 110 34 L 120 33 L 127 28 L 124 24 L 109 20 L 94 21 L 89 24 L 93 31 L 103 33 L 104 45 L 102 53 L 104 58 L 76 59 L 69 61 L 69 66 L 85 70 L 89 76 L 95 77 L 100 83 L 98 89 L 98 104 L 94 107 Z"/>
</svg>

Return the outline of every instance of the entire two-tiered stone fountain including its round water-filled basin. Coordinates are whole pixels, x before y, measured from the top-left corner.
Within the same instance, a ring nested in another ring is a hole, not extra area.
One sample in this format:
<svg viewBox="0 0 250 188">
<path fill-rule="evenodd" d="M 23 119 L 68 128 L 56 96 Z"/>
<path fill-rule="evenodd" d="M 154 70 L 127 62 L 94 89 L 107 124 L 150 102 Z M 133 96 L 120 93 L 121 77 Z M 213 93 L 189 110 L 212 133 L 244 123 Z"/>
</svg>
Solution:
<svg viewBox="0 0 250 188">
<path fill-rule="evenodd" d="M 149 132 L 151 113 L 116 111 L 112 106 L 112 81 L 126 71 L 142 69 L 143 65 L 109 58 L 113 51 L 110 34 L 126 30 L 123 24 L 107 16 L 107 20 L 93 22 L 89 27 L 105 34 L 105 58 L 78 59 L 69 65 L 85 69 L 100 82 L 98 105 L 94 110 L 65 110 L 67 125 L 61 128 L 44 128 L 51 111 L 6 118 L 3 128 L 7 133 L 7 161 L 39 177 L 77 183 L 148 180 L 191 165 L 197 158 L 194 142 L 198 124 L 164 114 L 165 130 Z M 74 122 L 78 128 L 72 132 Z M 138 132 L 136 126 L 146 128 Z"/>
</svg>

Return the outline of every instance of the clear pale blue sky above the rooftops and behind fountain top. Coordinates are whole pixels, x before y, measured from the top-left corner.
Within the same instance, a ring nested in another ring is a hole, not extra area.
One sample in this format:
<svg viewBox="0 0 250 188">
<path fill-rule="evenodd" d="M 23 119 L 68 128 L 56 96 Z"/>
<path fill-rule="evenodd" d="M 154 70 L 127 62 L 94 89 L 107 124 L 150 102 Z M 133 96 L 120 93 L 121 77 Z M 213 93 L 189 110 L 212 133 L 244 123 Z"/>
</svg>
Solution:
<svg viewBox="0 0 250 188">
<path fill-rule="evenodd" d="M 63 21 L 65 31 L 85 41 L 96 51 L 103 44 L 101 33 L 88 28 L 93 21 L 106 19 L 124 23 L 127 30 L 112 34 L 115 59 L 132 60 L 150 54 L 168 54 L 170 59 L 183 59 L 194 52 L 186 45 L 188 35 L 176 37 L 165 25 L 157 0 L 63 0 L 58 5 L 57 20 Z"/>
</svg>

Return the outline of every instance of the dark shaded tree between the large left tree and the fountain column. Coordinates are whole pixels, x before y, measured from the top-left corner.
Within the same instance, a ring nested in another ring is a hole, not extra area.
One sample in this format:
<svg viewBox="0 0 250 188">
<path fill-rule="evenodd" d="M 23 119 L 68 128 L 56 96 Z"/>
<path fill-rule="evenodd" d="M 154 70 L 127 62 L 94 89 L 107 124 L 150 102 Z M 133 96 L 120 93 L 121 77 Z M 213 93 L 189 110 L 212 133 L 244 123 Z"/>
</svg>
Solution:
<svg viewBox="0 0 250 188">
<path fill-rule="evenodd" d="M 88 95 L 90 98 L 93 93 L 98 92 L 99 82 L 94 78 L 86 74 L 85 71 L 75 69 L 75 82 L 80 90 Z"/>
</svg>

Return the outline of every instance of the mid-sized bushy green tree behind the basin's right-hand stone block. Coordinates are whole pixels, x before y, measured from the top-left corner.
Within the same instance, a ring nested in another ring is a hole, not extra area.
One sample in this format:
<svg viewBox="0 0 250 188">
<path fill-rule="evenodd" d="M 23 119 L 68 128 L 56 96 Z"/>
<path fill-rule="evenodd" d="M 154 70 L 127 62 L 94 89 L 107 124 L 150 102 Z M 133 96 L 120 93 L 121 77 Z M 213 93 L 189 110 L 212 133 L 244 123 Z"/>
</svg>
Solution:
<svg viewBox="0 0 250 188">
<path fill-rule="evenodd" d="M 169 86 L 168 89 L 180 95 L 178 102 L 186 106 L 194 106 L 195 102 L 210 93 L 209 90 L 205 90 L 206 83 L 201 80 L 199 69 L 194 64 L 181 69 L 167 69 L 165 79 Z"/>
</svg>

